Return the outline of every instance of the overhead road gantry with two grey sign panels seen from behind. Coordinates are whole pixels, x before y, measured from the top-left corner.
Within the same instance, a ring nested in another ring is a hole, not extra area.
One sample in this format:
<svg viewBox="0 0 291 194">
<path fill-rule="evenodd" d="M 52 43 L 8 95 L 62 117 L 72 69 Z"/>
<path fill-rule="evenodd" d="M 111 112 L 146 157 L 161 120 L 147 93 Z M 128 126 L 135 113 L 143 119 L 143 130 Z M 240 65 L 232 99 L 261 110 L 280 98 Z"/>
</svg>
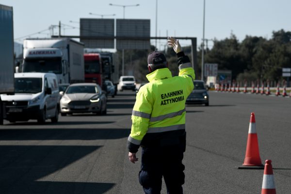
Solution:
<svg viewBox="0 0 291 194">
<path fill-rule="evenodd" d="M 116 33 L 114 30 L 116 29 Z M 116 34 L 116 35 L 114 35 Z M 80 38 L 85 48 L 92 49 L 149 49 L 151 39 L 167 39 L 167 37 L 150 37 L 149 19 L 95 19 L 80 18 L 80 36 L 52 36 Z M 176 37 L 177 39 L 190 39 L 192 65 L 198 72 L 197 65 L 197 39 L 196 37 Z M 116 46 L 114 47 L 114 39 Z"/>
</svg>

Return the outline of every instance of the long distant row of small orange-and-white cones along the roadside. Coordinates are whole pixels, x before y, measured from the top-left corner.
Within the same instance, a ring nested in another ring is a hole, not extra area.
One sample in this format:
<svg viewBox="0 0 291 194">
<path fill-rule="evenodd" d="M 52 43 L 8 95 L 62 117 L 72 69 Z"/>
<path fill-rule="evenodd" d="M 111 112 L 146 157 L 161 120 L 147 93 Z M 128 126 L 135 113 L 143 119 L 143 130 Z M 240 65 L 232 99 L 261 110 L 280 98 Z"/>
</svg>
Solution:
<svg viewBox="0 0 291 194">
<path fill-rule="evenodd" d="M 237 93 L 241 92 L 239 83 L 237 85 L 235 83 L 233 83 L 232 86 L 228 86 L 228 88 L 227 88 L 226 84 L 218 84 L 217 87 L 216 87 L 216 91 L 227 91 L 227 92 L 237 92 Z M 248 93 L 247 84 L 246 83 L 244 84 L 244 87 L 243 87 L 243 93 Z M 252 93 L 252 94 L 262 94 L 262 95 L 263 94 L 270 95 L 271 94 L 270 85 L 268 83 L 267 87 L 266 87 L 266 90 L 265 90 L 264 84 L 262 84 L 261 87 L 259 87 L 259 84 L 257 84 L 257 87 L 255 89 L 255 84 L 252 83 L 252 89 L 251 89 L 250 93 Z M 276 96 L 280 96 L 281 95 L 279 84 L 277 84 L 275 95 Z M 288 95 L 287 95 L 287 91 L 286 91 L 286 85 L 284 85 L 283 86 L 283 91 L 282 91 L 282 97 L 287 97 L 287 96 Z M 290 95 L 289 96 L 291 97 L 291 91 L 290 91 Z"/>
</svg>

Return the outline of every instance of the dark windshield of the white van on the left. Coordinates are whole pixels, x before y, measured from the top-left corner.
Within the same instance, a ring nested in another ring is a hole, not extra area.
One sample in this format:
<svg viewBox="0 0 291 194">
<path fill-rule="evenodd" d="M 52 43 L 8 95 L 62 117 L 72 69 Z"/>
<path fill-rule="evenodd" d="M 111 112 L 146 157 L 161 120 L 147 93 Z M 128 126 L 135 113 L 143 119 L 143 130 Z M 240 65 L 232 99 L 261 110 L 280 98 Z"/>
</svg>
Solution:
<svg viewBox="0 0 291 194">
<path fill-rule="evenodd" d="M 42 90 L 41 78 L 15 78 L 15 93 L 36 94 Z"/>
</svg>

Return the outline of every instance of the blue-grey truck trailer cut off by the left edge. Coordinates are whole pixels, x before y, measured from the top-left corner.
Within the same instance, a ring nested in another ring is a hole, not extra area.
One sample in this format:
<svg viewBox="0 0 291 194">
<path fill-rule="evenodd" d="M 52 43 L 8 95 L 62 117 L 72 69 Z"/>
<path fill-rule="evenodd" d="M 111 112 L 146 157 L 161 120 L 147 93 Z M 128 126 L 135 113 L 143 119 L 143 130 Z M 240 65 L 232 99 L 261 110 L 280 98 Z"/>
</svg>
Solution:
<svg viewBox="0 0 291 194">
<path fill-rule="evenodd" d="M 14 93 L 13 8 L 0 4 L 0 94 Z M 4 105 L 0 98 L 0 125 Z"/>
</svg>

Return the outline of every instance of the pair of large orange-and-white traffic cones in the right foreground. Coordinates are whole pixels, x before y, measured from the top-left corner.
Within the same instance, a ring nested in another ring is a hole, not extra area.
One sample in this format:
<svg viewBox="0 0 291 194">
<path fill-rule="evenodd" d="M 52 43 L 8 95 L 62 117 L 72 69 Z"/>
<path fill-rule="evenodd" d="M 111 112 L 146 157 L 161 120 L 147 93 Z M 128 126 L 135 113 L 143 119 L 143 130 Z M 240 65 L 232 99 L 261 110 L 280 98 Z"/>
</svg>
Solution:
<svg viewBox="0 0 291 194">
<path fill-rule="evenodd" d="M 248 131 L 245 158 L 239 169 L 263 169 L 264 176 L 261 194 L 276 194 L 275 181 L 273 175 L 272 161 L 266 160 L 263 166 L 259 156 L 259 144 L 256 130 L 255 113 L 251 113 Z"/>
</svg>

